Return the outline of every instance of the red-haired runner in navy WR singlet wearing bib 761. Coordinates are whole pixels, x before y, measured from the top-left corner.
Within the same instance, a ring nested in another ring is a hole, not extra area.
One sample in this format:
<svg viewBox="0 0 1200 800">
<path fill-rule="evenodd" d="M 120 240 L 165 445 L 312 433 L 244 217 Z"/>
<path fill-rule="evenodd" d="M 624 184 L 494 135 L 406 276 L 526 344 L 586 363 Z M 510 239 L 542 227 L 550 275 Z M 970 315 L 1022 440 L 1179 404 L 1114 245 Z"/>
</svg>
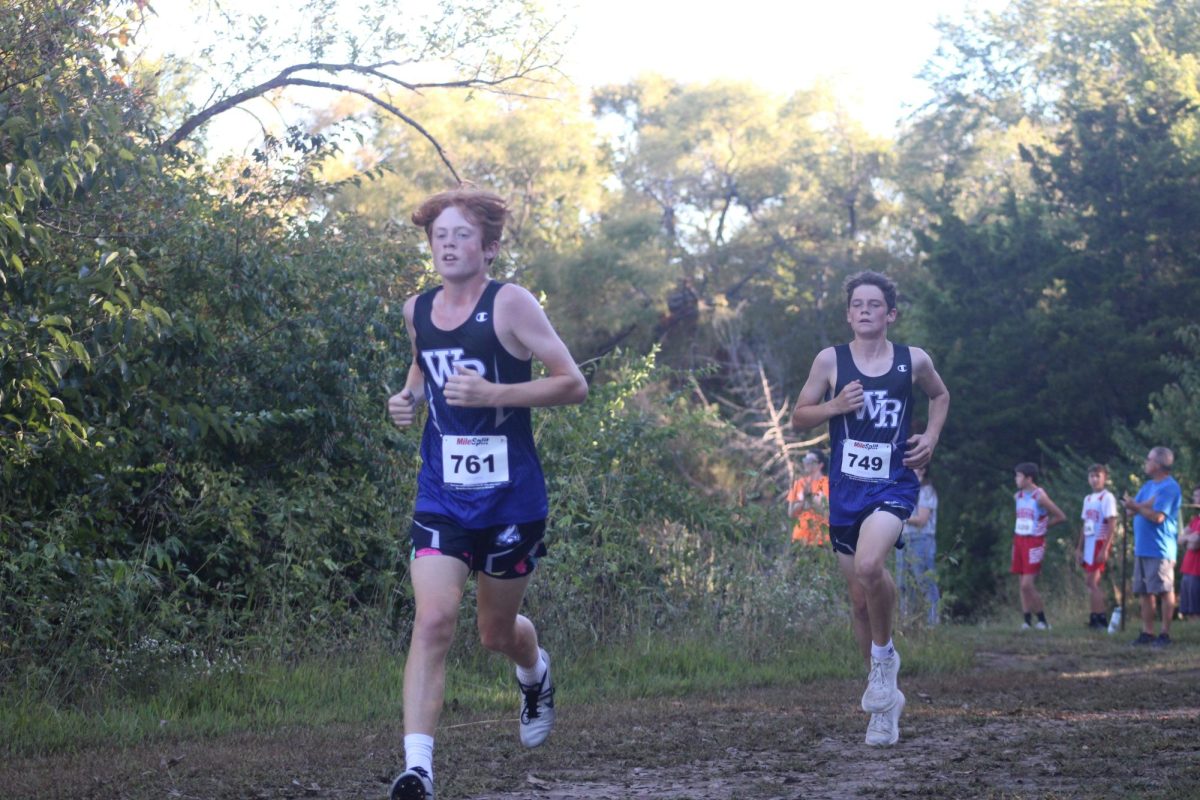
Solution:
<svg viewBox="0 0 1200 800">
<path fill-rule="evenodd" d="M 540 745 L 554 723 L 550 657 L 518 613 L 546 552 L 529 409 L 582 403 L 588 385 L 534 296 L 487 275 L 506 216 L 499 196 L 470 188 L 436 194 L 413 213 L 442 285 L 404 303 L 413 360 L 404 389 L 388 399 L 401 427 L 430 405 L 409 531 L 416 613 L 404 664 L 406 766 L 390 800 L 433 798 L 445 658 L 472 573 L 480 642 L 516 664 L 521 742 Z M 536 380 L 534 357 L 546 367 Z"/>
</svg>

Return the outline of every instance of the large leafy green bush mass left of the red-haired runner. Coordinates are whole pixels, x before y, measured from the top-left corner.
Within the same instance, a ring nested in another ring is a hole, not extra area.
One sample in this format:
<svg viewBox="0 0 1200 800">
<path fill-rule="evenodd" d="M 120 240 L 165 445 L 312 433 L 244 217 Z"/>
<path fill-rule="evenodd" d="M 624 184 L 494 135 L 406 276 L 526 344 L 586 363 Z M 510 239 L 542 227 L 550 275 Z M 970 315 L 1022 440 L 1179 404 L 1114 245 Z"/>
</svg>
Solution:
<svg viewBox="0 0 1200 800">
<path fill-rule="evenodd" d="M 0 657 L 336 631 L 395 584 L 412 446 L 380 397 L 420 272 L 311 217 L 319 137 L 228 178 L 156 155 L 92 5 L 22 8 L 61 52 L 4 95 Z"/>
</svg>

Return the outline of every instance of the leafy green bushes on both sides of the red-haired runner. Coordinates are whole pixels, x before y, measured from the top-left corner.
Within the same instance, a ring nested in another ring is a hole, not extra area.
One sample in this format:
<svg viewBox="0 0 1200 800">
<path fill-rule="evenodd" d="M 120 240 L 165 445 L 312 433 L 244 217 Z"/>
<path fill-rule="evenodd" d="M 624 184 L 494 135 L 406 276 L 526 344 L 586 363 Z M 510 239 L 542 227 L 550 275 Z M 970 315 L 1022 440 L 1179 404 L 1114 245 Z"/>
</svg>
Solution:
<svg viewBox="0 0 1200 800">
<path fill-rule="evenodd" d="M 77 698 L 248 650 L 404 643 L 418 437 L 384 399 L 408 368 L 402 300 L 427 279 L 416 231 L 330 211 L 334 138 L 292 131 L 216 167 L 162 150 L 155 98 L 114 67 L 127 19 L 16 10 L 0 681 Z M 556 636 L 782 632 L 826 600 L 680 378 L 612 356 L 587 404 L 536 416 L 553 546 L 529 606 Z"/>
</svg>

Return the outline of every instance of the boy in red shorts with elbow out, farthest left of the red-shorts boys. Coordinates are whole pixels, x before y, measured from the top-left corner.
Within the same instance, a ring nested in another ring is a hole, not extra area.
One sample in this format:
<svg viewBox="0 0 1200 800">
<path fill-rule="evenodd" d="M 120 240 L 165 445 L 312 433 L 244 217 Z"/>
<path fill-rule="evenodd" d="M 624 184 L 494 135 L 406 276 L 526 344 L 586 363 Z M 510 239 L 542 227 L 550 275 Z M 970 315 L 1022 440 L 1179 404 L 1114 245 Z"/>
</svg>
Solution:
<svg viewBox="0 0 1200 800">
<path fill-rule="evenodd" d="M 1054 504 L 1046 491 L 1038 486 L 1038 465 L 1024 462 L 1013 468 L 1013 480 L 1016 483 L 1016 525 L 1013 528 L 1013 566 L 1021 591 L 1021 614 L 1025 621 L 1021 630 L 1031 627 L 1049 631 L 1045 606 L 1038 591 L 1037 579 L 1042 573 L 1042 561 L 1046 554 L 1046 531 L 1060 522 L 1067 522 L 1067 515 Z M 1038 620 L 1033 621 L 1037 614 Z"/>
</svg>

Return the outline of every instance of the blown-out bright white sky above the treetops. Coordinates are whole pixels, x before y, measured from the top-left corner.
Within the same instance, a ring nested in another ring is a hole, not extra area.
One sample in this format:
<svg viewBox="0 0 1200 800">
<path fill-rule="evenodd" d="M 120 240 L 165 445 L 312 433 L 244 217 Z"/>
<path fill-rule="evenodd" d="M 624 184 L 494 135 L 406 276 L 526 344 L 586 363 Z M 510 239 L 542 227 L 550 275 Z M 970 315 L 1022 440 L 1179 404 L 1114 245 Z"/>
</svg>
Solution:
<svg viewBox="0 0 1200 800">
<path fill-rule="evenodd" d="M 925 98 L 916 74 L 937 47 L 937 19 L 961 19 L 968 10 L 1004 5 L 1004 0 L 545 1 L 576 24 L 563 71 L 581 88 L 622 83 L 646 72 L 696 83 L 746 80 L 781 95 L 832 83 L 851 114 L 878 134 L 892 133 L 895 122 Z M 150 24 L 149 41 L 185 53 L 203 44 L 203 32 L 179 24 L 178 12 L 187 2 L 155 2 L 158 18 Z M 214 0 L 208 2 L 211 10 Z M 413 0 L 392 2 L 397 10 L 413 7 Z M 226 6 L 242 4 L 257 5 L 221 0 Z M 348 10 L 355 5 L 346 2 Z M 259 139 L 260 130 L 245 113 L 226 113 L 209 127 L 216 150 L 244 151 Z"/>
</svg>

